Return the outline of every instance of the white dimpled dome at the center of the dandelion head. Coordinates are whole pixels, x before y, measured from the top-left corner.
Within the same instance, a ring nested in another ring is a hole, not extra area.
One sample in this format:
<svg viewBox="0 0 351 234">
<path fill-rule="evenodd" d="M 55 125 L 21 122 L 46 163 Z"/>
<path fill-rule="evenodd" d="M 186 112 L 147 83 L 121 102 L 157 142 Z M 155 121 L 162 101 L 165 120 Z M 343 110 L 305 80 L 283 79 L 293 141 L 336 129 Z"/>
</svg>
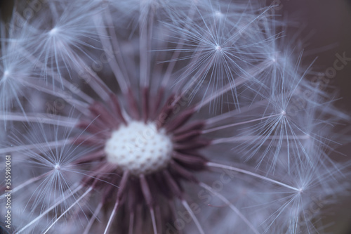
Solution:
<svg viewBox="0 0 351 234">
<path fill-rule="evenodd" d="M 150 174 L 168 165 L 173 145 L 164 129 L 156 124 L 129 122 L 112 132 L 106 142 L 107 161 L 131 174 Z"/>
</svg>

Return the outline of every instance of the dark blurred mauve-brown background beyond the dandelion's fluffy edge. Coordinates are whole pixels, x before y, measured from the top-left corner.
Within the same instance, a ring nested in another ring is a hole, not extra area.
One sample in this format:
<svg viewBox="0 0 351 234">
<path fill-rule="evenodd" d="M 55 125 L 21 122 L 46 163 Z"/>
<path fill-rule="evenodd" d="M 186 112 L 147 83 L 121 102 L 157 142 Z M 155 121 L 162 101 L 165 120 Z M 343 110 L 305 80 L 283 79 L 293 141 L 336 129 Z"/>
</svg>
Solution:
<svg viewBox="0 0 351 234">
<path fill-rule="evenodd" d="M 32 2 L 36 1 L 44 0 L 32 0 Z M 14 2 L 14 0 L 0 1 L 2 20 L 8 22 Z M 298 25 L 301 30 L 300 37 L 306 42 L 305 56 L 310 56 L 311 60 L 318 57 L 314 63 L 317 70 L 323 72 L 328 67 L 333 67 L 334 61 L 338 59 L 337 55 L 351 58 L 350 0 L 273 0 L 267 1 L 267 4 L 277 5 L 275 13 L 292 19 L 295 25 Z M 351 113 L 351 60 L 347 61 L 343 69 L 338 70 L 336 77 L 329 79 L 329 82 L 329 86 L 338 91 L 336 97 L 340 98 L 335 104 L 340 110 Z M 341 126 L 341 128 L 348 128 L 348 132 L 351 132 L 350 125 Z M 351 156 L 350 145 L 345 145 L 339 150 Z M 328 230 L 329 233 L 351 234 L 351 199 L 346 202 L 347 204 L 342 204 L 340 209 L 336 209 L 340 210 L 338 214 L 332 214 L 338 216 L 338 223 L 343 224 L 333 226 Z M 345 210 L 345 207 L 349 208 Z M 331 219 L 335 220 L 335 216 Z"/>
</svg>

